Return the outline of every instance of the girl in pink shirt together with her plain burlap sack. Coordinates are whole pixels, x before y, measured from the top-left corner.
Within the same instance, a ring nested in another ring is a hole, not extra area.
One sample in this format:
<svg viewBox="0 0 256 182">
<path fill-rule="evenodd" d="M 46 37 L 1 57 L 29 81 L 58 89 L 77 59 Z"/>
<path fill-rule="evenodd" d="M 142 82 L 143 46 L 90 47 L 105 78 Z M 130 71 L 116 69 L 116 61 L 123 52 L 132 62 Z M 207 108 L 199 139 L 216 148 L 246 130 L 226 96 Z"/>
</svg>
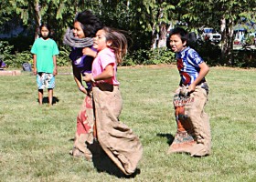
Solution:
<svg viewBox="0 0 256 182">
<path fill-rule="evenodd" d="M 96 33 L 93 48 L 97 54 L 91 74 L 83 79 L 92 83 L 96 141 L 124 175 L 132 175 L 143 147 L 133 130 L 119 121 L 123 101 L 116 78 L 116 67 L 126 54 L 127 40 L 120 32 L 104 27 Z"/>
</svg>

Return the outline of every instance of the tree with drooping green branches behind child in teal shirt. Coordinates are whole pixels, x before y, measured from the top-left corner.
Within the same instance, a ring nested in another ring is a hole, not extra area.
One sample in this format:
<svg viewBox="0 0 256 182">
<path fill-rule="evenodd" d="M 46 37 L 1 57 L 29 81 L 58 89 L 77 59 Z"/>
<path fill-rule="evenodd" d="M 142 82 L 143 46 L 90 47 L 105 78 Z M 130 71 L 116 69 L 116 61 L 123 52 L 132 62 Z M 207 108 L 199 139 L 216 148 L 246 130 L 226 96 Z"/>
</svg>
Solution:
<svg viewBox="0 0 256 182">
<path fill-rule="evenodd" d="M 35 27 L 35 37 L 42 22 L 54 26 L 54 34 L 61 44 L 66 27 L 73 21 L 74 15 L 83 8 L 86 1 L 80 0 L 9 0 L 16 14 L 20 15 L 24 25 Z M 80 8 L 79 8 L 80 7 Z"/>
</svg>

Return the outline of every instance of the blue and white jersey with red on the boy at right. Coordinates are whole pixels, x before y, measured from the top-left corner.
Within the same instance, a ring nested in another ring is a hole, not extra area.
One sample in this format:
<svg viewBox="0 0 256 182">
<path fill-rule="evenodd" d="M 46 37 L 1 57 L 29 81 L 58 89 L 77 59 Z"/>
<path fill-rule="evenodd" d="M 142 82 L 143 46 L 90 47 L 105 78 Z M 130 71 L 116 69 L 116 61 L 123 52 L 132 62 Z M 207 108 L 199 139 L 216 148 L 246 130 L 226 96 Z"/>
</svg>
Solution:
<svg viewBox="0 0 256 182">
<path fill-rule="evenodd" d="M 199 65 L 203 62 L 197 51 L 189 46 L 176 53 L 176 66 L 181 76 L 180 85 L 189 86 L 193 83 L 199 75 Z M 205 81 L 205 78 L 202 81 Z"/>
</svg>

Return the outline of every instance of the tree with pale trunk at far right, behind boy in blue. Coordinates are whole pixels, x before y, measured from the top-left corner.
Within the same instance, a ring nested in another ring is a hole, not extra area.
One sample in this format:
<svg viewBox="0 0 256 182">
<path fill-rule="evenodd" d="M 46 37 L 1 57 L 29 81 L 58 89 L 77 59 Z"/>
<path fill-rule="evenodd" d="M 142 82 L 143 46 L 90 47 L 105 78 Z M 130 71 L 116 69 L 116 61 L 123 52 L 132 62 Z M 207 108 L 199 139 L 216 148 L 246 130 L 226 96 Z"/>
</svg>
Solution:
<svg viewBox="0 0 256 182">
<path fill-rule="evenodd" d="M 187 6 L 187 8 L 183 8 Z M 225 64 L 233 64 L 233 27 L 241 16 L 254 17 L 255 1 L 247 0 L 180 0 L 176 9 L 190 29 L 209 25 L 222 35 L 221 55 Z M 253 18 L 251 18 L 253 19 Z"/>
</svg>

